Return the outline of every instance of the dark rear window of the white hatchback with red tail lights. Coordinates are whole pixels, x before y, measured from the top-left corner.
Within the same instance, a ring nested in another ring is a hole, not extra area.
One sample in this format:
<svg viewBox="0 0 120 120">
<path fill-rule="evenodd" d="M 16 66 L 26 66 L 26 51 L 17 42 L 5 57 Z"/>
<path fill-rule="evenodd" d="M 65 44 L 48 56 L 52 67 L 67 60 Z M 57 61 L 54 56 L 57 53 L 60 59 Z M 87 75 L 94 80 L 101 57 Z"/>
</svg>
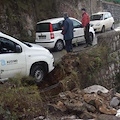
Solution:
<svg viewBox="0 0 120 120">
<path fill-rule="evenodd" d="M 50 23 L 37 24 L 36 32 L 50 32 Z"/>
</svg>

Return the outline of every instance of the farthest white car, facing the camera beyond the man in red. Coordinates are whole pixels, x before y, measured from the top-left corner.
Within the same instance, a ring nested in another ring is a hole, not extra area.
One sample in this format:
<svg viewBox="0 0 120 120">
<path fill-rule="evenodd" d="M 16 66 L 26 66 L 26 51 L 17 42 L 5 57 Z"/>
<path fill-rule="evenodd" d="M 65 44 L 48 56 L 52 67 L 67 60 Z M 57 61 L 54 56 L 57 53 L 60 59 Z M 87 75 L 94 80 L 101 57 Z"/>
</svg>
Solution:
<svg viewBox="0 0 120 120">
<path fill-rule="evenodd" d="M 105 32 L 108 29 L 114 29 L 114 18 L 110 12 L 98 12 L 90 17 L 90 24 L 95 32 Z"/>
</svg>

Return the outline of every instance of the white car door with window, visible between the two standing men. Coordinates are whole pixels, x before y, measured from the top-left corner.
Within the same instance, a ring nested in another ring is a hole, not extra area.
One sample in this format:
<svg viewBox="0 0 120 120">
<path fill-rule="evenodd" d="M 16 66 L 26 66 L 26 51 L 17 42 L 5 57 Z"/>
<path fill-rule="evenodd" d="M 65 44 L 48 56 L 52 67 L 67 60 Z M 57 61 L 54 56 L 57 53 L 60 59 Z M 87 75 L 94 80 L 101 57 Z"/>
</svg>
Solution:
<svg viewBox="0 0 120 120">
<path fill-rule="evenodd" d="M 84 28 L 82 27 L 82 24 L 76 20 L 73 21 L 74 26 L 74 39 L 73 43 L 77 43 L 84 40 Z"/>
</svg>

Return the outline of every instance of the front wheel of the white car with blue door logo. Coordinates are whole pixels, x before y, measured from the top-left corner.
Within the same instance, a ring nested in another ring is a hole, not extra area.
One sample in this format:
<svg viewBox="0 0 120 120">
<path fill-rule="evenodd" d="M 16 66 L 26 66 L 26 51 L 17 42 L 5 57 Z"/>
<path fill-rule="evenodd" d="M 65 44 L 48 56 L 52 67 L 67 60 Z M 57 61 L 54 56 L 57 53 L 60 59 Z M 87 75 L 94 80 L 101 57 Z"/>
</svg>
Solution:
<svg viewBox="0 0 120 120">
<path fill-rule="evenodd" d="M 40 83 L 45 76 L 45 70 L 42 65 L 35 65 L 31 70 L 31 76 L 36 79 L 37 83 Z"/>
</svg>

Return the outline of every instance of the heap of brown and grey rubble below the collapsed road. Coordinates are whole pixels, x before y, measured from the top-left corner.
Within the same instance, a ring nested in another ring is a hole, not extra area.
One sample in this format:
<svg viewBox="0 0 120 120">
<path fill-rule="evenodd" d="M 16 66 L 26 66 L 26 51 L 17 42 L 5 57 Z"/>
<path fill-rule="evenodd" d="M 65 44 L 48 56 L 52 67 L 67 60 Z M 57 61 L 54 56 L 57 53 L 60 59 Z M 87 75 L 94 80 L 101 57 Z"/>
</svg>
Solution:
<svg viewBox="0 0 120 120">
<path fill-rule="evenodd" d="M 96 87 L 95 85 L 84 90 L 76 88 L 72 91 L 62 92 L 56 98 L 56 101 L 48 104 L 49 110 L 51 111 L 52 108 L 54 112 L 68 113 L 77 116 L 76 119 L 108 120 L 102 119 L 102 117 L 112 116 L 113 119 L 111 120 L 117 120 L 117 113 L 119 114 L 117 108 L 120 108 L 120 101 L 117 97 L 119 93 L 116 93 L 113 89 L 107 90 L 102 86 Z"/>
</svg>

